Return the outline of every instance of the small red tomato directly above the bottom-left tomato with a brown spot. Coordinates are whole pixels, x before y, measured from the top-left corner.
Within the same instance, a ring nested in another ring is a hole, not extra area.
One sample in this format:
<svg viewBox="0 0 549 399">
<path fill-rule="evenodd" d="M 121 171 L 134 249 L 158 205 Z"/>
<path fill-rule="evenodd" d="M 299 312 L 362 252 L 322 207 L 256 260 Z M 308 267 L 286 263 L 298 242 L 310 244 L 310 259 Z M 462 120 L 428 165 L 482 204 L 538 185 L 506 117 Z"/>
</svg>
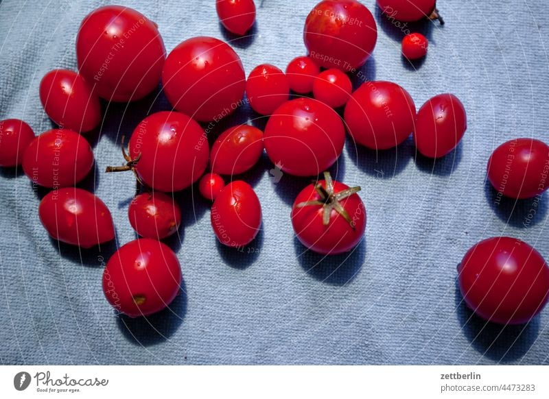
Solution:
<svg viewBox="0 0 549 399">
<path fill-rule="evenodd" d="M 136 195 L 128 208 L 133 230 L 146 239 L 170 237 L 181 223 L 181 210 L 174 199 L 163 193 Z"/>
</svg>

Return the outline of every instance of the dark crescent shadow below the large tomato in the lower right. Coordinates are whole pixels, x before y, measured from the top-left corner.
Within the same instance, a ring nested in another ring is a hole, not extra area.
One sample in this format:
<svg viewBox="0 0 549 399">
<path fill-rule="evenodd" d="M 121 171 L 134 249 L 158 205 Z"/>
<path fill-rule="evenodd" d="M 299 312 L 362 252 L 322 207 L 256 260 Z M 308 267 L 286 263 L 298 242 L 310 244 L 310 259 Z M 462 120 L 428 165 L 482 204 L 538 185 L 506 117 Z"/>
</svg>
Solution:
<svg viewBox="0 0 549 399">
<path fill-rule="evenodd" d="M 520 359 L 530 350 L 539 333 L 539 317 L 528 324 L 508 325 L 487 322 L 465 304 L 456 279 L 456 315 L 461 331 L 482 356 L 507 363 Z"/>
</svg>

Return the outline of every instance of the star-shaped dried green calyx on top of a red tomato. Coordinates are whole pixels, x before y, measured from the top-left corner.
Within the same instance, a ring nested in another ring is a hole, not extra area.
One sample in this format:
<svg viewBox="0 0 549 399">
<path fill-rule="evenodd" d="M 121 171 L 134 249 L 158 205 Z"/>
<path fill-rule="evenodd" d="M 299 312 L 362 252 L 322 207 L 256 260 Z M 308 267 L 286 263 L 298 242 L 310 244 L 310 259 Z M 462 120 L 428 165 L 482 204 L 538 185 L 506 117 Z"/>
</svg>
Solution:
<svg viewBox="0 0 549 399">
<path fill-rule="evenodd" d="M 355 230 L 355 223 L 351 220 L 351 217 L 349 216 L 349 213 L 345 208 L 343 208 L 340 201 L 342 199 L 345 199 L 347 197 L 350 197 L 351 195 L 358 193 L 360 191 L 359 186 L 355 187 L 349 187 L 349 189 L 345 189 L 342 191 L 338 191 L 337 193 L 334 193 L 334 180 L 332 180 L 331 175 L 329 172 L 324 172 L 324 180 L 326 187 L 323 187 L 320 183 L 316 182 L 314 184 L 314 189 L 320 195 L 320 199 L 315 199 L 313 201 L 305 201 L 300 202 L 296 205 L 297 208 L 303 208 L 305 206 L 322 206 L 323 207 L 323 215 L 322 215 L 322 222 L 324 226 L 327 226 L 330 221 L 330 215 L 331 210 L 336 210 L 337 213 L 339 213 L 347 223 L 349 223 L 349 226 L 353 230 Z"/>
</svg>

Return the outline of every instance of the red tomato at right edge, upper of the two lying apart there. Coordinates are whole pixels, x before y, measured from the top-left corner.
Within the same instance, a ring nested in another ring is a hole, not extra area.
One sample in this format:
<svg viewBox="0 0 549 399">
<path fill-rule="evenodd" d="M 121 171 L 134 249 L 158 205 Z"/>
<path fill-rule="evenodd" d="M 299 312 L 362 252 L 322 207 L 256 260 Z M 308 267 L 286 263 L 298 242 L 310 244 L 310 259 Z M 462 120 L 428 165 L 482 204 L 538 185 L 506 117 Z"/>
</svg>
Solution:
<svg viewBox="0 0 549 399">
<path fill-rule="evenodd" d="M 549 188 L 549 145 L 535 138 L 503 143 L 488 160 L 493 188 L 515 199 L 541 195 Z"/>
</svg>

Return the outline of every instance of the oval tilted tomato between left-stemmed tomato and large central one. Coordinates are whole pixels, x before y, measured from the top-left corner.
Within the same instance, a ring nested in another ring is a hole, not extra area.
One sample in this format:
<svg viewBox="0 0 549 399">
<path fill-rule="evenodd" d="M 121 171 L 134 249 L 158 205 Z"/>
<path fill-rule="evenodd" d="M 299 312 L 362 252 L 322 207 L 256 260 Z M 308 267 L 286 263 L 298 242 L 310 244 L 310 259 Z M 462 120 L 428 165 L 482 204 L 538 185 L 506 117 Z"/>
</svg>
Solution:
<svg viewBox="0 0 549 399">
<path fill-rule="evenodd" d="M 238 125 L 223 132 L 211 147 L 211 171 L 238 175 L 251 169 L 263 153 L 263 132 Z"/>
</svg>

